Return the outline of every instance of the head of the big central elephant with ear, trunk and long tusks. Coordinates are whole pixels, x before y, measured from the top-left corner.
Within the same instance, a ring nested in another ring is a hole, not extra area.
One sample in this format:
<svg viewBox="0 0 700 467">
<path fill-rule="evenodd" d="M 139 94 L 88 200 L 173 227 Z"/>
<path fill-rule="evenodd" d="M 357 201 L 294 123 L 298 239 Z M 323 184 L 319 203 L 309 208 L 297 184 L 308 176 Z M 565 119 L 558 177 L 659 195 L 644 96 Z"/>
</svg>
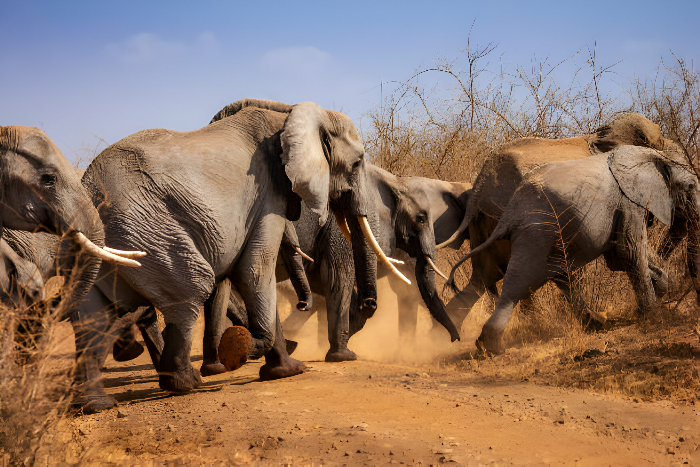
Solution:
<svg viewBox="0 0 700 467">
<path fill-rule="evenodd" d="M 341 230 L 349 235 L 360 307 L 376 309 L 377 258 L 398 271 L 374 237 L 379 222 L 376 200 L 368 189 L 365 148 L 352 120 L 313 102 L 288 106 L 243 99 L 225 106 L 211 121 L 248 106 L 288 113 L 280 134 L 281 160 L 292 190 L 318 215 L 319 225 L 332 212 Z"/>
</svg>

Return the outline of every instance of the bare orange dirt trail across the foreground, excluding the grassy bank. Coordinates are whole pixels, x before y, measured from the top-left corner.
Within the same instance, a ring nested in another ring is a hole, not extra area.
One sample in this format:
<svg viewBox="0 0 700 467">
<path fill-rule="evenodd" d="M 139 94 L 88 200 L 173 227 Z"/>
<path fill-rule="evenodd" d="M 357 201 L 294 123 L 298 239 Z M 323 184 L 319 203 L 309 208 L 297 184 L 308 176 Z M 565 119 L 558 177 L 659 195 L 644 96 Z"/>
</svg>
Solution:
<svg viewBox="0 0 700 467">
<path fill-rule="evenodd" d="M 174 396 L 159 389 L 145 354 L 110 358 L 104 382 L 118 409 L 66 420 L 44 436 L 36 461 L 700 463 L 694 405 L 370 361 L 310 361 L 303 375 L 260 382 L 261 363 Z"/>
</svg>

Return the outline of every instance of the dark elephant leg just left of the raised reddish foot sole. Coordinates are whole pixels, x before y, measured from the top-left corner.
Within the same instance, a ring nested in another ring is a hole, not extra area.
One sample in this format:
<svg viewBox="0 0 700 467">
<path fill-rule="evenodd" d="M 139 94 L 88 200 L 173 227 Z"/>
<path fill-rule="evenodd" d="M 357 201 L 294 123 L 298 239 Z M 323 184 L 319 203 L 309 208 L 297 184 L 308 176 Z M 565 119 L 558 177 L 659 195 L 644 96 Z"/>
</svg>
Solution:
<svg viewBox="0 0 700 467">
<path fill-rule="evenodd" d="M 226 326 L 226 314 L 228 311 L 231 294 L 231 281 L 224 279 L 214 287 L 214 293 L 209 295 L 204 302 L 204 337 L 202 339 L 202 376 L 218 375 L 226 372 L 226 368 L 219 361 L 218 346 Z"/>
</svg>

